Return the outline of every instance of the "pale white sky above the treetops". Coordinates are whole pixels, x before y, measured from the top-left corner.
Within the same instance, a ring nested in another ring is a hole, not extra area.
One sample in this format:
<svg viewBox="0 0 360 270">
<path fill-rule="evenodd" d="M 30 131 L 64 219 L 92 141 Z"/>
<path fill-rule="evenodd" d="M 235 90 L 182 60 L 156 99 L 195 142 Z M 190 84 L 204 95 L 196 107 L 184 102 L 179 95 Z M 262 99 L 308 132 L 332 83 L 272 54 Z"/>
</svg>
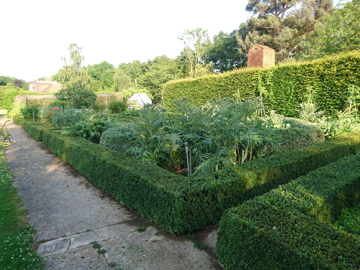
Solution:
<svg viewBox="0 0 360 270">
<path fill-rule="evenodd" d="M 69 58 L 69 44 L 84 48 L 85 65 L 115 67 L 157 55 L 176 57 L 177 37 L 201 27 L 209 36 L 231 32 L 251 15 L 247 0 L 16 1 L 1 2 L 0 75 L 26 81 L 51 76 Z"/>
</svg>

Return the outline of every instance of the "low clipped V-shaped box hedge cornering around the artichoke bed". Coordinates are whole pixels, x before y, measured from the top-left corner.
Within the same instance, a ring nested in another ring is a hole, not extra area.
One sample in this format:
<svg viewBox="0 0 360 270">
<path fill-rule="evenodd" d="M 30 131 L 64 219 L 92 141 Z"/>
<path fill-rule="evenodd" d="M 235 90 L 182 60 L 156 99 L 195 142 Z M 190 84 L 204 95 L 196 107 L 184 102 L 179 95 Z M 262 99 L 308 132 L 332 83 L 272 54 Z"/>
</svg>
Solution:
<svg viewBox="0 0 360 270">
<path fill-rule="evenodd" d="M 204 228 L 229 207 L 349 153 L 347 145 L 319 143 L 189 178 L 84 138 L 44 131 L 43 141 L 95 185 L 173 235 Z"/>
</svg>

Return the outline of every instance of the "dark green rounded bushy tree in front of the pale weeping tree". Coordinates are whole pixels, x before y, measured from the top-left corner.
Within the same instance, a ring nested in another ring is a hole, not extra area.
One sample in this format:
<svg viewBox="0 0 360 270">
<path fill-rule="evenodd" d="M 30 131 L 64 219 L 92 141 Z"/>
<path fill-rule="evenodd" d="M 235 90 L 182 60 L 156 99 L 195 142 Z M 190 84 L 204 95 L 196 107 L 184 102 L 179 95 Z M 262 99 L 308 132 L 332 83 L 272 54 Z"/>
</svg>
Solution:
<svg viewBox="0 0 360 270">
<path fill-rule="evenodd" d="M 81 83 L 62 87 L 56 94 L 56 98 L 77 106 L 89 107 L 93 105 L 98 95 L 93 90 L 86 89 Z"/>
</svg>

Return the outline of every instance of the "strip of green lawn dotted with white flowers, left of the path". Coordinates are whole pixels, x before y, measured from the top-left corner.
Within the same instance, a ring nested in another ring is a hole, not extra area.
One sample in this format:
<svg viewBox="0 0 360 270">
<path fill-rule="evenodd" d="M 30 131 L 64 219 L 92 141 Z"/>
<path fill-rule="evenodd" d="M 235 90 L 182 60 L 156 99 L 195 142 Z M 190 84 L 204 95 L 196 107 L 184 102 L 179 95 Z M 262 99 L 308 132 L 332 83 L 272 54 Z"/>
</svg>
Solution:
<svg viewBox="0 0 360 270">
<path fill-rule="evenodd" d="M 0 269 L 43 269 L 33 248 L 35 228 L 27 222 L 27 209 L 12 185 L 4 152 L 0 149 Z"/>
</svg>

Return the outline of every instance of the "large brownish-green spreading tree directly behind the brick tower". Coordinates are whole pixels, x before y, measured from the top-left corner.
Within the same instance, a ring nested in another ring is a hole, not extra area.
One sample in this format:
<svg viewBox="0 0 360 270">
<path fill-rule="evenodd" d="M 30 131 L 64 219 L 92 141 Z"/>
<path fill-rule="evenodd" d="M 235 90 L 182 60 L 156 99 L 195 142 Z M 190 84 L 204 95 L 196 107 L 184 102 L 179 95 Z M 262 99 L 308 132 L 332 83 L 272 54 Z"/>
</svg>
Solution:
<svg viewBox="0 0 360 270">
<path fill-rule="evenodd" d="M 332 0 L 249 0 L 246 37 L 237 34 L 240 53 L 255 43 L 275 50 L 279 62 L 301 53 L 316 21 L 332 8 Z"/>
</svg>

